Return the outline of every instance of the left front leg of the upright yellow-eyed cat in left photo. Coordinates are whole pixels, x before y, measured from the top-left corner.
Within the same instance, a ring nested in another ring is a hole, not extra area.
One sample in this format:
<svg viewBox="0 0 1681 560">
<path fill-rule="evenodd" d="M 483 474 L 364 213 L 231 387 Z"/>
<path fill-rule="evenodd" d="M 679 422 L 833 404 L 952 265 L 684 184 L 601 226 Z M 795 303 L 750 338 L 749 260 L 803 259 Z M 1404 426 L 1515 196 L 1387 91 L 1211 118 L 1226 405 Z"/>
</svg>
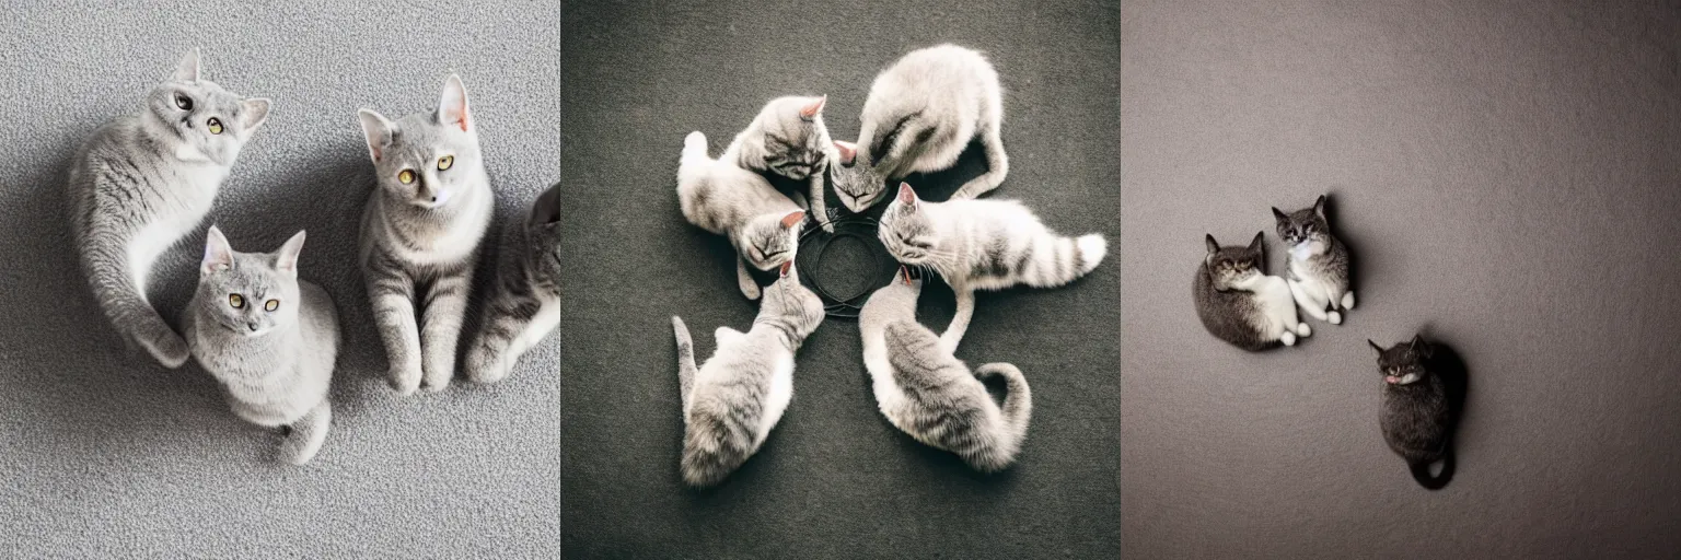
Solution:
<svg viewBox="0 0 1681 560">
<path fill-rule="evenodd" d="M 415 325 L 414 279 L 397 267 L 368 267 L 368 299 L 373 303 L 373 326 L 385 343 L 390 363 L 387 382 L 400 395 L 420 387 L 420 328 Z"/>
</svg>

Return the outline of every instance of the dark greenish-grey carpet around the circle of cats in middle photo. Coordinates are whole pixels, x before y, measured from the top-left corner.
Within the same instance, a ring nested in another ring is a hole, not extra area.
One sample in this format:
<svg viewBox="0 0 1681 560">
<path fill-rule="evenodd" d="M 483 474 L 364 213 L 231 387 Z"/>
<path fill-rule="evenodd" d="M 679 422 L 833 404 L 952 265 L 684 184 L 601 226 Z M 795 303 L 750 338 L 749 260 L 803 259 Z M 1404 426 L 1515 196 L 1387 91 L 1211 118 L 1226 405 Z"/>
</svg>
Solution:
<svg viewBox="0 0 1681 560">
<path fill-rule="evenodd" d="M 721 488 L 686 489 L 671 316 L 709 355 L 716 326 L 746 328 L 758 309 L 736 289 L 723 237 L 677 210 L 684 135 L 704 131 L 716 155 L 765 101 L 829 94 L 825 119 L 851 140 L 874 74 L 940 42 L 990 54 L 1004 79 L 1012 165 L 990 197 L 1113 240 L 1118 17 L 1086 2 L 568 2 L 563 552 L 1116 557 L 1115 264 L 1062 289 L 978 298 L 958 357 L 1014 362 L 1034 390 L 1020 462 L 1000 476 L 894 431 L 869 392 L 857 323 L 830 320 L 800 350 L 793 404 L 765 447 Z M 950 192 L 962 178 L 923 183 Z M 950 289 L 923 301 L 923 323 L 943 330 Z"/>
</svg>

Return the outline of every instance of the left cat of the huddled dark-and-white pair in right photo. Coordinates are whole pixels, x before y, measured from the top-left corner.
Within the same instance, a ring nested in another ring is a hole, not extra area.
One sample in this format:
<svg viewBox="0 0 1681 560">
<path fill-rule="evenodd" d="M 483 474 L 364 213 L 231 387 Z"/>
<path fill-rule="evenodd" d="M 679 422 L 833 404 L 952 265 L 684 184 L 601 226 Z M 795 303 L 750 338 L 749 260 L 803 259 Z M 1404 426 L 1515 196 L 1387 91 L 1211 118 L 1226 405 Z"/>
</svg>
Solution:
<svg viewBox="0 0 1681 560">
<path fill-rule="evenodd" d="M 1207 235 L 1209 254 L 1197 266 L 1192 296 L 1197 318 L 1214 336 L 1249 351 L 1266 350 L 1283 343 L 1294 346 L 1298 336 L 1313 335 L 1308 323 L 1296 320 L 1296 301 L 1283 277 L 1266 276 L 1261 240 L 1264 232 L 1247 247 L 1220 247 Z"/>
</svg>

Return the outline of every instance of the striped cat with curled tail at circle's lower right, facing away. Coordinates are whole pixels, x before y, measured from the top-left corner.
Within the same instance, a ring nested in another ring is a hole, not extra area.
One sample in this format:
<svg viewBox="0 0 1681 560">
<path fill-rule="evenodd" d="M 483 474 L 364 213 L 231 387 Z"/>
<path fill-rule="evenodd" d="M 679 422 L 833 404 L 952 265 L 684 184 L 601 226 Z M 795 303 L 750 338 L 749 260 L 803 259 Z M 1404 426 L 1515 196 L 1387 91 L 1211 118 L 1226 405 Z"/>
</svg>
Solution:
<svg viewBox="0 0 1681 560">
<path fill-rule="evenodd" d="M 923 281 L 908 269 L 876 289 L 857 314 L 864 368 L 876 404 L 894 427 L 916 441 L 955 452 L 970 468 L 995 473 L 1015 462 L 1027 437 L 1032 394 L 1009 363 L 968 365 L 940 348 L 940 336 L 916 323 Z M 1004 405 L 992 402 L 980 378 L 1004 377 Z"/>
</svg>

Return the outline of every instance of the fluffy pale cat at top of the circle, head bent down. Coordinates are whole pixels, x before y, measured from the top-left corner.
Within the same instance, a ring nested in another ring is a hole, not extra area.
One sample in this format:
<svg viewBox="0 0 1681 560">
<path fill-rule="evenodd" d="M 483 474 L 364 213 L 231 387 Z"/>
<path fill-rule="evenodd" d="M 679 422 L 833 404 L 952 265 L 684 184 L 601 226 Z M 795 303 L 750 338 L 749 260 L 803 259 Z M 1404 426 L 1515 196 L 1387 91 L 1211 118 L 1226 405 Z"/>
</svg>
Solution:
<svg viewBox="0 0 1681 560">
<path fill-rule="evenodd" d="M 980 197 L 1010 172 L 1002 123 L 1004 89 L 987 57 L 950 44 L 911 50 L 871 84 L 857 145 L 835 145 L 835 197 L 864 212 L 886 195 L 888 182 L 955 165 L 975 136 L 987 153 L 987 173 L 963 183 L 951 200 Z"/>
</svg>

